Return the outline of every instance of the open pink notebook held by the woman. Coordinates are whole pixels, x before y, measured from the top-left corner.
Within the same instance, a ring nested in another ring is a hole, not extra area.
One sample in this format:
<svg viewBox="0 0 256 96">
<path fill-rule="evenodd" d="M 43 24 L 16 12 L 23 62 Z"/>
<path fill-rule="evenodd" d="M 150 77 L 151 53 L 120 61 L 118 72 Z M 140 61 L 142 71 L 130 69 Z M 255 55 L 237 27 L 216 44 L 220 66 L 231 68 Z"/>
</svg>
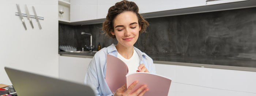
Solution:
<svg viewBox="0 0 256 96">
<path fill-rule="evenodd" d="M 127 88 L 132 82 L 138 80 L 139 83 L 133 88 L 136 91 L 142 85 L 147 85 L 149 89 L 143 96 L 167 96 L 172 80 L 157 74 L 137 72 L 127 74 L 127 65 L 119 58 L 107 54 L 105 80 L 114 94 L 116 90 L 127 84 Z M 131 93 L 132 93 L 131 92 Z"/>
</svg>

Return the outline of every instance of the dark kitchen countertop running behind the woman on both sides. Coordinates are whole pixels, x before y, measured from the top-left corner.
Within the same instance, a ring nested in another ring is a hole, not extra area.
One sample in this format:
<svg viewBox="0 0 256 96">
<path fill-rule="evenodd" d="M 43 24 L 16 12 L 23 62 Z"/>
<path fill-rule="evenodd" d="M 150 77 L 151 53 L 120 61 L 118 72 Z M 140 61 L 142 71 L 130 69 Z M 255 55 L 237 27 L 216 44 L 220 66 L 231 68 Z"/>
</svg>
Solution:
<svg viewBox="0 0 256 96">
<path fill-rule="evenodd" d="M 95 53 L 73 53 L 59 51 L 60 55 L 82 58 L 93 58 Z M 146 53 L 156 64 L 195 66 L 203 68 L 218 68 L 256 72 L 256 59 L 219 58 L 219 57 L 189 57 L 168 53 Z"/>
</svg>

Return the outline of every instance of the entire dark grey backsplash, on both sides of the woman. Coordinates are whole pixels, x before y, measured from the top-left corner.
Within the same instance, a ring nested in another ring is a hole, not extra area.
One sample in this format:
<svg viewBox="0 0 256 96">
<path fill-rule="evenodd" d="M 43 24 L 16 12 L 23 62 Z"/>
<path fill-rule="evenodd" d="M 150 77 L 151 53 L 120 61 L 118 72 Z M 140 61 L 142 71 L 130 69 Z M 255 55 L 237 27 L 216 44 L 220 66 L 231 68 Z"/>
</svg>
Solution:
<svg viewBox="0 0 256 96">
<path fill-rule="evenodd" d="M 134 46 L 147 54 L 242 58 L 255 62 L 255 10 L 256 7 L 146 19 L 150 26 Z M 93 34 L 94 50 L 98 43 L 101 47 L 117 44 L 115 39 L 102 34 L 101 27 L 102 24 L 59 24 L 59 45 L 82 50 L 84 45 L 90 45 L 90 35 L 81 35 L 82 31 Z"/>
</svg>

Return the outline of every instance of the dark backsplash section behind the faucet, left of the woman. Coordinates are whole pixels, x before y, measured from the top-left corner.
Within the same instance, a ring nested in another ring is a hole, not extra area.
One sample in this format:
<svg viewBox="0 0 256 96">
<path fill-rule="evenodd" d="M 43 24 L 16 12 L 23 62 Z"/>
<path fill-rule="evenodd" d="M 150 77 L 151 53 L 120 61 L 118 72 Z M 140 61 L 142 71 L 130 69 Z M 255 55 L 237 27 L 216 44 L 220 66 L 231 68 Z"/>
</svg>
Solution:
<svg viewBox="0 0 256 96">
<path fill-rule="evenodd" d="M 97 50 L 98 43 L 101 47 L 108 47 L 112 43 L 117 43 L 115 39 L 108 38 L 101 30 L 102 24 L 92 24 L 83 26 L 71 26 L 59 24 L 59 45 L 70 45 L 76 47 L 77 50 L 88 51 L 85 45 L 90 45 L 90 35 L 81 34 L 81 32 L 93 35 L 94 50 Z"/>
</svg>

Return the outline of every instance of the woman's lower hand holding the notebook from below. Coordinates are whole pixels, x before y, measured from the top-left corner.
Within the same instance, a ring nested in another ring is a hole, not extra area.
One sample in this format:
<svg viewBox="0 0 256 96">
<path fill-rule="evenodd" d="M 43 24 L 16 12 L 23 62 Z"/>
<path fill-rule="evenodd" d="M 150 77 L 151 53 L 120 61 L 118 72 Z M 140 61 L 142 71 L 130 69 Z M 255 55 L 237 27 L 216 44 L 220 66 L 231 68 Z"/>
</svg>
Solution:
<svg viewBox="0 0 256 96">
<path fill-rule="evenodd" d="M 116 93 L 114 96 L 143 96 L 146 91 L 148 91 L 147 85 L 143 85 L 140 88 L 138 88 L 136 91 L 133 93 L 130 93 L 132 89 L 135 87 L 135 85 L 138 84 L 138 81 L 134 81 L 132 85 L 130 85 L 126 91 L 126 84 L 124 84 L 121 88 L 118 88 L 116 90 Z"/>
</svg>

